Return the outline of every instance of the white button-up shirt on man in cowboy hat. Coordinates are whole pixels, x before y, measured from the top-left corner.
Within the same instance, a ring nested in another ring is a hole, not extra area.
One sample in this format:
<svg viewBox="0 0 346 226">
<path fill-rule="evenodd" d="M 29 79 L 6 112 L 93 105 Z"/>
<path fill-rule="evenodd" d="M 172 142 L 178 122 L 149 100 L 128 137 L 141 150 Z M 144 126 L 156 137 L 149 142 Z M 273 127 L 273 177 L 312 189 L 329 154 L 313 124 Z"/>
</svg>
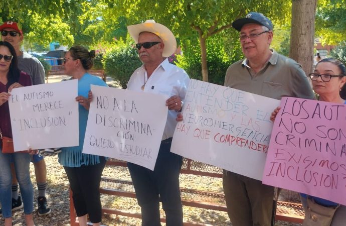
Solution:
<svg viewBox="0 0 346 226">
<path fill-rule="evenodd" d="M 145 87 L 144 90 L 142 90 L 141 87 L 145 81 Z M 130 80 L 127 83 L 127 89 L 161 94 L 168 98 L 178 95 L 184 101 L 189 82 L 189 75 L 182 68 L 170 64 L 166 58 L 152 72 L 149 79 L 145 73 L 144 65 L 137 68 L 132 73 Z M 178 112 L 175 110 L 168 110 L 167 122 L 164 127 L 162 141 L 173 137 L 177 125 L 177 114 Z"/>
</svg>

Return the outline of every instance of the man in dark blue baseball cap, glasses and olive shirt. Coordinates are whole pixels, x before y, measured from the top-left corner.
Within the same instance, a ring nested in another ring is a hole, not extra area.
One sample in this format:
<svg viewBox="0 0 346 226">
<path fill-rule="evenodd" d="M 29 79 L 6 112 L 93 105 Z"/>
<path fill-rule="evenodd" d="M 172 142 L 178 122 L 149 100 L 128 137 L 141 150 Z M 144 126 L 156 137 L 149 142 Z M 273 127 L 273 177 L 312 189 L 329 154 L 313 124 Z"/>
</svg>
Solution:
<svg viewBox="0 0 346 226">
<path fill-rule="evenodd" d="M 240 32 L 246 58 L 227 69 L 225 86 L 274 99 L 283 96 L 314 98 L 301 65 L 270 49 L 273 24 L 267 17 L 251 12 L 234 21 L 232 26 Z M 223 186 L 233 226 L 273 223 L 274 187 L 227 170 L 223 173 Z"/>
</svg>

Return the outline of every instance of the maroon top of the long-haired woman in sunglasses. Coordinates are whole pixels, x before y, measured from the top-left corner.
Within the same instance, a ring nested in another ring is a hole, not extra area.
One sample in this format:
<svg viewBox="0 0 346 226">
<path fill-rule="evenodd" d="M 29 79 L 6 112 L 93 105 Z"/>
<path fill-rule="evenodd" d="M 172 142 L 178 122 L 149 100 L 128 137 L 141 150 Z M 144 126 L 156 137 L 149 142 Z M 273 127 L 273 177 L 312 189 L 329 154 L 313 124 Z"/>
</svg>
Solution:
<svg viewBox="0 0 346 226">
<path fill-rule="evenodd" d="M 23 86 L 31 85 L 30 75 L 21 71 L 18 83 Z M 0 93 L 8 91 L 9 89 L 6 87 L 6 85 L 0 82 Z M 0 106 L 0 129 L 4 137 L 12 138 L 9 101 L 6 101 L 3 105 Z M 3 145 L 3 141 L 1 139 L 0 144 Z"/>
</svg>

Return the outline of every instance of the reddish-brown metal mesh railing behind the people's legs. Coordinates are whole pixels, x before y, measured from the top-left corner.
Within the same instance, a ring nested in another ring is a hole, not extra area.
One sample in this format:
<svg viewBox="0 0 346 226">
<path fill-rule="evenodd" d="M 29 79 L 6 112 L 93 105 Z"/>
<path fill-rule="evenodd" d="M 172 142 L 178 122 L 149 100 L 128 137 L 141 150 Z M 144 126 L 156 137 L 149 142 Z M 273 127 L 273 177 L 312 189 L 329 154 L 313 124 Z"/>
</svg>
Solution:
<svg viewBox="0 0 346 226">
<path fill-rule="evenodd" d="M 121 160 L 110 159 L 106 165 L 127 167 L 126 162 Z M 200 176 L 222 178 L 222 169 L 216 166 L 197 162 L 191 159 L 184 158 L 181 173 L 194 174 Z M 227 211 L 225 203 L 225 195 L 223 192 L 202 191 L 196 189 L 181 188 L 182 203 L 186 206 L 213 209 L 219 211 Z M 132 185 L 132 181 L 121 180 L 116 178 L 101 178 L 100 192 L 103 194 L 116 195 L 122 197 L 136 198 L 136 194 Z M 102 212 L 110 214 L 118 214 L 129 217 L 141 218 L 140 213 L 127 212 L 119 209 L 102 208 Z M 70 191 L 70 219 L 71 225 L 77 226 L 78 220 L 74 211 Z M 293 202 L 277 202 L 275 220 L 283 220 L 294 223 L 302 223 L 304 219 L 304 209 L 300 203 Z M 165 222 L 161 218 L 161 222 Z M 200 222 L 184 222 L 185 226 L 200 225 L 206 226 L 209 224 Z"/>
</svg>

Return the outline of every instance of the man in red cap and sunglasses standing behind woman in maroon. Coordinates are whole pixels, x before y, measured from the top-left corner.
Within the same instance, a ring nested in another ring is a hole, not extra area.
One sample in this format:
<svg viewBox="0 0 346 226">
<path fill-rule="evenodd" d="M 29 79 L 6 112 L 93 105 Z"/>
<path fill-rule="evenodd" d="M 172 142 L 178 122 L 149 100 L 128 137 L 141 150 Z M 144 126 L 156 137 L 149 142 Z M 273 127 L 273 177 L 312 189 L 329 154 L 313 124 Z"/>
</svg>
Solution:
<svg viewBox="0 0 346 226">
<path fill-rule="evenodd" d="M 1 25 L 2 41 L 11 43 L 15 48 L 18 68 L 30 75 L 33 85 L 45 83 L 46 73 L 42 63 L 36 57 L 21 51 L 21 43 L 24 36 L 20 27 L 18 23 L 13 21 L 7 21 Z M 45 197 L 47 188 L 46 162 L 41 155 L 33 155 L 32 162 L 35 166 L 36 182 L 39 191 L 38 214 L 46 215 L 51 212 L 51 209 L 47 206 L 47 199 Z M 12 197 L 12 209 L 23 207 L 21 197 L 18 195 L 18 183 L 12 185 Z"/>
</svg>

